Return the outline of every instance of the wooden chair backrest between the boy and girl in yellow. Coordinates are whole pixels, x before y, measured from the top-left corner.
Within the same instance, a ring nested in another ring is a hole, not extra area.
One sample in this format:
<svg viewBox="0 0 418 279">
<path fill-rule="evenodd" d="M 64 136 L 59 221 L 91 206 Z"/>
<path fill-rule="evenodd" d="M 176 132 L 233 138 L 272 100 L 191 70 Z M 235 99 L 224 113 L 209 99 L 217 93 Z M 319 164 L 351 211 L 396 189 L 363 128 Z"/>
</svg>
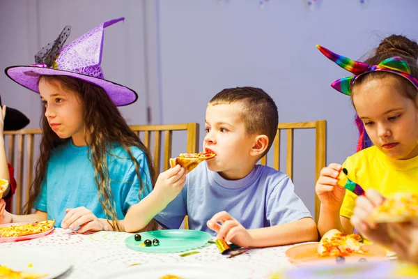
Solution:
<svg viewBox="0 0 418 279">
<path fill-rule="evenodd" d="M 315 129 L 315 181 L 318 180 L 320 170 L 325 167 L 327 157 L 327 121 L 318 120 L 310 122 L 279 123 L 277 135 L 272 144 L 273 167 L 280 169 L 280 131 L 286 130 L 286 174 L 293 178 L 293 132 L 299 129 Z M 261 158 L 261 164 L 267 165 L 267 156 Z M 314 185 L 315 187 L 315 185 Z M 315 220 L 318 222 L 320 201 L 315 194 Z"/>
</svg>

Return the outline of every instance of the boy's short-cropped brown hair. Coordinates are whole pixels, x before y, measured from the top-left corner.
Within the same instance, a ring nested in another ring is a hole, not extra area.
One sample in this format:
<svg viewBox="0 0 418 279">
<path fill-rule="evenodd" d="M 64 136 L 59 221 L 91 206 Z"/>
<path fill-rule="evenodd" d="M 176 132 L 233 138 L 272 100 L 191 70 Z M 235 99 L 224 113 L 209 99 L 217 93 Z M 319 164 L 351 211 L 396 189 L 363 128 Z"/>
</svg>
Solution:
<svg viewBox="0 0 418 279">
<path fill-rule="evenodd" d="M 255 87 L 235 87 L 217 93 L 210 105 L 240 104 L 242 120 L 248 135 L 266 135 L 268 147 L 263 157 L 272 146 L 279 124 L 279 113 L 274 100 L 263 89 Z"/>
</svg>

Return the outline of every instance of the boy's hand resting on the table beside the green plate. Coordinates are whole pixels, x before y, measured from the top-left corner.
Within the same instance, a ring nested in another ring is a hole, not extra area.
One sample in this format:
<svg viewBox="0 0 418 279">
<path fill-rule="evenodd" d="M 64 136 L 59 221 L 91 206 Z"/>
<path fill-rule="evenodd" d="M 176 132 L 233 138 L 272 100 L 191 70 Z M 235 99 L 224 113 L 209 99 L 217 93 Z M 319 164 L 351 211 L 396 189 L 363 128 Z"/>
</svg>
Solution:
<svg viewBox="0 0 418 279">
<path fill-rule="evenodd" d="M 219 225 L 221 223 L 222 225 Z M 251 247 L 253 239 L 245 227 L 235 220 L 226 211 L 216 213 L 206 223 L 208 227 L 217 232 L 217 239 L 224 238 L 225 241 L 231 241 L 241 247 Z"/>
</svg>

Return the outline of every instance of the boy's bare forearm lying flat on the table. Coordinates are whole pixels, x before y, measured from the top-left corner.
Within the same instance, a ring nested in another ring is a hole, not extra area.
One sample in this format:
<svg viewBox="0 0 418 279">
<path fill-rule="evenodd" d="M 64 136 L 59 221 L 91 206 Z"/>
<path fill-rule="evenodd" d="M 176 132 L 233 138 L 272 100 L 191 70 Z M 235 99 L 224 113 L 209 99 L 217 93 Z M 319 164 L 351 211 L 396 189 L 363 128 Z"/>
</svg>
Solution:
<svg viewBox="0 0 418 279">
<path fill-rule="evenodd" d="M 306 241 L 318 241 L 318 231 L 312 218 L 303 218 L 291 223 L 263 227 L 261 229 L 249 229 L 253 239 L 251 246 L 268 247 L 280 246 Z"/>
</svg>

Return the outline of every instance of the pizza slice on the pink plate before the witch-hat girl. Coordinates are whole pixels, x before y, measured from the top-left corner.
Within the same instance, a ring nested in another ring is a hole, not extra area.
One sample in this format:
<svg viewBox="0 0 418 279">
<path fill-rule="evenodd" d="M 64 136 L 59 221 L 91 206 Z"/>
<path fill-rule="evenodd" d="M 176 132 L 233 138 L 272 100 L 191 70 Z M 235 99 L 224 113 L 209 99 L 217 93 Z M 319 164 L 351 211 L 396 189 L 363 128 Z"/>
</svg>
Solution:
<svg viewBox="0 0 418 279">
<path fill-rule="evenodd" d="M 54 224 L 55 220 L 46 220 L 42 222 L 0 227 L 0 237 L 17 237 L 29 234 L 40 234 L 51 230 L 54 227 Z"/>
</svg>

